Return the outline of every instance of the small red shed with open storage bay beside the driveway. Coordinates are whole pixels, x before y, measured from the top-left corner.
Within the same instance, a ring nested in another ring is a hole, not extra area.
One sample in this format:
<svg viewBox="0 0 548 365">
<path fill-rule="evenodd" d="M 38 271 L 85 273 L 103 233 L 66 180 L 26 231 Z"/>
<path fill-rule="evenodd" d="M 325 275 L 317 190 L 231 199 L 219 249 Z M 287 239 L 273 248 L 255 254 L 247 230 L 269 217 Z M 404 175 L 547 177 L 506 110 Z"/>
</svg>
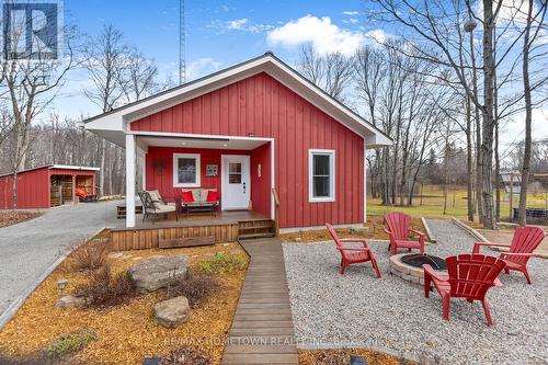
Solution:
<svg viewBox="0 0 548 365">
<path fill-rule="evenodd" d="M 75 203 L 75 189 L 95 195 L 99 168 L 49 164 L 18 172 L 18 208 L 49 208 Z M 0 176 L 0 208 L 13 208 L 13 175 Z"/>
</svg>

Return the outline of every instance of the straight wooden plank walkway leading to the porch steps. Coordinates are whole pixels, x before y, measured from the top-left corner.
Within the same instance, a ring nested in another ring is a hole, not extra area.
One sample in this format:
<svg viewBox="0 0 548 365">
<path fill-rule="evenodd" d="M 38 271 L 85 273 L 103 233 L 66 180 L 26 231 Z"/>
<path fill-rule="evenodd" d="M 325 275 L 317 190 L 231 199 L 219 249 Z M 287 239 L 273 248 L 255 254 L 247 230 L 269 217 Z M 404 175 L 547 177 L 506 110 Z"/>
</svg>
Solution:
<svg viewBox="0 0 548 365">
<path fill-rule="evenodd" d="M 242 240 L 251 256 L 222 364 L 298 364 L 282 243 Z"/>
</svg>

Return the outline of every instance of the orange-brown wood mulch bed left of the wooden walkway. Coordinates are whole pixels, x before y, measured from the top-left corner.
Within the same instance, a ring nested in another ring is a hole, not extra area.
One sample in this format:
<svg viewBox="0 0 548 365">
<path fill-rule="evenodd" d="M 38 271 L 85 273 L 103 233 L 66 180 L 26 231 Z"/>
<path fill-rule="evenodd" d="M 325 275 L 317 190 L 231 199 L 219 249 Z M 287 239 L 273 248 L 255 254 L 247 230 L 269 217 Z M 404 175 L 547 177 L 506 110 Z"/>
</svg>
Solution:
<svg viewBox="0 0 548 365">
<path fill-rule="evenodd" d="M 238 252 L 246 258 L 238 243 L 227 246 L 126 251 L 119 259 L 110 258 L 114 274 L 122 273 L 140 260 L 155 254 L 186 254 L 192 271 L 208 259 L 204 254 Z M 70 308 L 55 306 L 59 298 L 57 281 L 69 281 L 68 292 L 85 282 L 84 273 L 73 271 L 69 262 L 62 263 L 31 295 L 15 318 L 0 332 L 0 354 L 3 356 L 32 356 L 64 333 L 89 329 L 98 341 L 75 354 L 73 363 L 85 364 L 140 364 L 145 356 L 167 355 L 181 347 L 191 347 L 219 364 L 224 340 L 231 326 L 244 270 L 224 275 L 212 275 L 222 286 L 208 299 L 193 309 L 191 320 L 176 329 L 167 329 L 151 319 L 153 305 L 165 296 L 162 292 L 135 297 L 126 304 L 106 309 Z M 0 355 L 1 356 L 1 355 Z"/>
</svg>

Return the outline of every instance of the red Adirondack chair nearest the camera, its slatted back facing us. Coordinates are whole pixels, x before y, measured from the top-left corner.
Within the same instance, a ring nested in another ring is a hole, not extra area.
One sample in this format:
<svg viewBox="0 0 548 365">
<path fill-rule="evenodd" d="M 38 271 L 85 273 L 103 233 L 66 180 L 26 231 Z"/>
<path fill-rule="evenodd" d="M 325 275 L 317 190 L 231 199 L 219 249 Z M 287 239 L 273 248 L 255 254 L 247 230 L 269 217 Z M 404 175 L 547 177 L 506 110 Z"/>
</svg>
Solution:
<svg viewBox="0 0 548 365">
<path fill-rule="evenodd" d="M 459 254 L 445 259 L 447 275 L 441 275 L 431 265 L 424 264 L 424 296 L 430 297 L 430 284 L 434 282 L 443 301 L 443 318 L 449 320 L 450 298 L 480 300 L 486 311 L 487 324 L 491 326 L 491 313 L 486 294 L 492 286 L 502 286 L 496 278 L 504 269 L 504 261 L 483 254 Z"/>
</svg>

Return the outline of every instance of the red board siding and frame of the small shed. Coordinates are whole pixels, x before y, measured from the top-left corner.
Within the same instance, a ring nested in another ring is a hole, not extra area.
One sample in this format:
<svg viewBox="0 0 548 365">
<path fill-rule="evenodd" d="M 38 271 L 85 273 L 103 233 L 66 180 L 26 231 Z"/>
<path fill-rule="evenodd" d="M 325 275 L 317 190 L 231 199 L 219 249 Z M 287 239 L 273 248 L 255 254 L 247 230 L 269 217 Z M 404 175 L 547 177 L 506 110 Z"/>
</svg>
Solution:
<svg viewBox="0 0 548 365">
<path fill-rule="evenodd" d="M 95 171 L 73 169 L 49 169 L 48 167 L 18 173 L 18 208 L 49 208 L 49 181 L 52 175 L 93 176 L 95 192 Z M 13 175 L 0 176 L 0 209 L 13 208 Z"/>
</svg>

